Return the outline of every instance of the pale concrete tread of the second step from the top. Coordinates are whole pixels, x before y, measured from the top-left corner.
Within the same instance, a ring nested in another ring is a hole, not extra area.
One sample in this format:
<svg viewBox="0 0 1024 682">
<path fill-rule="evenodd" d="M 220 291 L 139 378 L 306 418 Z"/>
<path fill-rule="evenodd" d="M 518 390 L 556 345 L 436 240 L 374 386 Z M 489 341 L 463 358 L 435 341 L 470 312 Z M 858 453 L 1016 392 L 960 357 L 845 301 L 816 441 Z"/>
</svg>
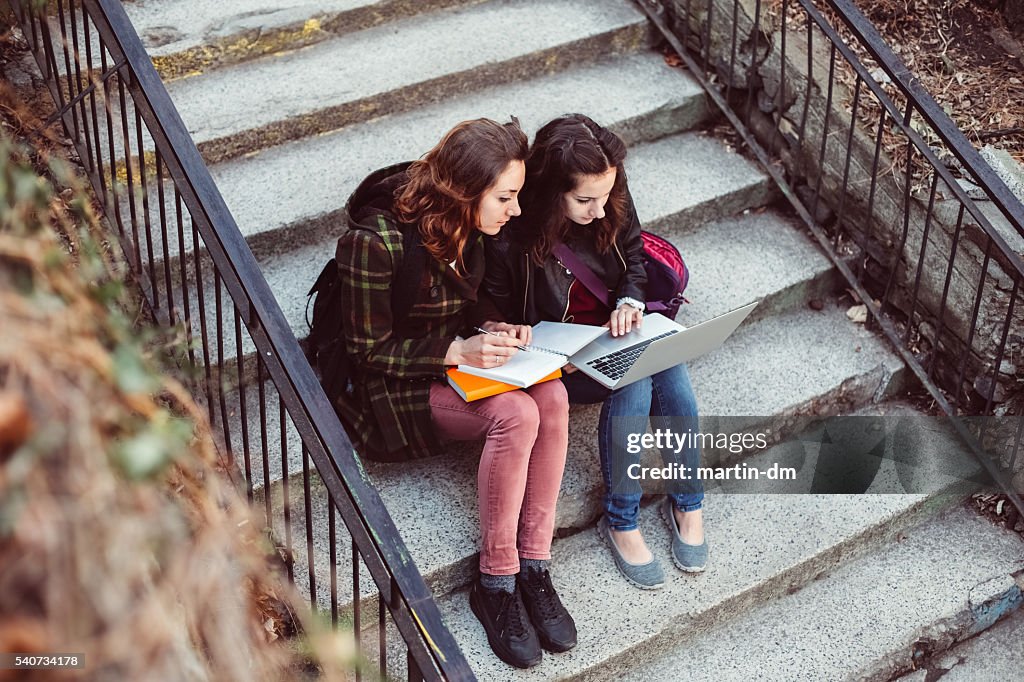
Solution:
<svg viewBox="0 0 1024 682">
<path fill-rule="evenodd" d="M 643 26 L 639 10 L 616 0 L 503 0 L 398 19 L 213 70 L 173 81 L 168 91 L 202 144 Z"/>
</svg>

